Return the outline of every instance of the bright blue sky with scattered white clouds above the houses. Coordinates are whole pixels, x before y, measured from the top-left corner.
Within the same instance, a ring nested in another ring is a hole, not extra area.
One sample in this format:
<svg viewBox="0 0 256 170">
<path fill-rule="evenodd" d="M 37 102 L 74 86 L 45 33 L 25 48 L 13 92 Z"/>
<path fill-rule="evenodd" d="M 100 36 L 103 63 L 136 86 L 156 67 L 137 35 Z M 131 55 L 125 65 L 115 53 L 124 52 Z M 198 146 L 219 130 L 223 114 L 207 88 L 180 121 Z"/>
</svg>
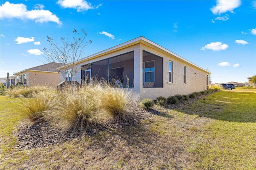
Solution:
<svg viewBox="0 0 256 170">
<path fill-rule="evenodd" d="M 91 55 L 143 36 L 211 71 L 213 83 L 256 74 L 256 1 L 0 2 L 0 77 L 47 63 L 46 36 L 87 32 Z"/>
</svg>

